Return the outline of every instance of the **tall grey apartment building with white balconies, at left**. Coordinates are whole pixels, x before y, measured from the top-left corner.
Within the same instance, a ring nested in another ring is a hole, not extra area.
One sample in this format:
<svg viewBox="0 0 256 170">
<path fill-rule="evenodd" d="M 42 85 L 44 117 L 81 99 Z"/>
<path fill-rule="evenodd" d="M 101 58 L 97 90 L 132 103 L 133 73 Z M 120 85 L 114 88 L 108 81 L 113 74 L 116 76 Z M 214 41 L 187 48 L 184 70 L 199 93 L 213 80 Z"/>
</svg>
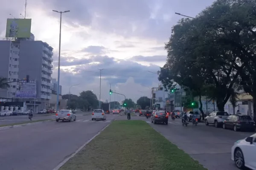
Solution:
<svg viewBox="0 0 256 170">
<path fill-rule="evenodd" d="M 36 80 L 37 109 L 49 108 L 51 99 L 52 47 L 46 42 L 32 39 L 1 40 L 0 41 L 0 77 L 8 81 L 26 78 Z M 15 99 L 17 82 L 9 83 L 10 88 L 0 89 L 0 97 Z M 34 105 L 35 99 L 23 99 Z"/>
</svg>

